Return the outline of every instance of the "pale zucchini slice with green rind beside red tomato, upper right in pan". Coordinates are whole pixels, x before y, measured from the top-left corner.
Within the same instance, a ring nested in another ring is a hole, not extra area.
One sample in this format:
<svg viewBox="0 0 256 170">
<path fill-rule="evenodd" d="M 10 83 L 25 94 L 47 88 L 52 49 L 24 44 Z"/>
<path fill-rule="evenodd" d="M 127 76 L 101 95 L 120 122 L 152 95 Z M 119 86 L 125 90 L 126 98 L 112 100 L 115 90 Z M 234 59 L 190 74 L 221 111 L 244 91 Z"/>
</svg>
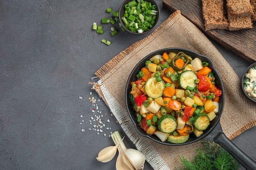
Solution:
<svg viewBox="0 0 256 170">
<path fill-rule="evenodd" d="M 196 86 L 195 79 L 197 78 L 193 71 L 186 70 L 178 76 L 178 84 L 183 89 L 186 89 L 187 86 L 194 88 Z"/>
</svg>

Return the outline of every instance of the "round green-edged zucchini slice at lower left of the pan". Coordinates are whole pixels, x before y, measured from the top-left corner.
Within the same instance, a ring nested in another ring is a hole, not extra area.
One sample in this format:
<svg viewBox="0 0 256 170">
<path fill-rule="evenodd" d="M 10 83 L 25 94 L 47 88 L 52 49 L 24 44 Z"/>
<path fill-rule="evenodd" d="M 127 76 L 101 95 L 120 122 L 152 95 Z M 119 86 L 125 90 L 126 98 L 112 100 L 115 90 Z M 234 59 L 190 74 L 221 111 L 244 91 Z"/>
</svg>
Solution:
<svg viewBox="0 0 256 170">
<path fill-rule="evenodd" d="M 162 132 L 171 133 L 177 128 L 177 120 L 172 115 L 163 115 L 158 120 L 158 128 Z"/>
</svg>

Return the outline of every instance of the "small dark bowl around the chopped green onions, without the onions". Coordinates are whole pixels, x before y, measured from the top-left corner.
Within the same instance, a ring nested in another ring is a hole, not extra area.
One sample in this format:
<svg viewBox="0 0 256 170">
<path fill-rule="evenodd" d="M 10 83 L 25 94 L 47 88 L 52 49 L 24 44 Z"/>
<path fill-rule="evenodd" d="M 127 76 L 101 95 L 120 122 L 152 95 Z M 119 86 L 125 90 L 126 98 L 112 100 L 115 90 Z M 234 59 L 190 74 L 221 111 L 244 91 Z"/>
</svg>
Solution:
<svg viewBox="0 0 256 170">
<path fill-rule="evenodd" d="M 132 32 L 130 31 L 129 29 L 126 28 L 123 20 L 121 19 L 123 16 L 124 16 L 124 12 L 125 12 L 125 9 L 124 9 L 124 6 L 125 4 L 128 4 L 128 2 L 131 2 L 132 0 L 125 0 L 122 4 L 121 4 L 121 7 L 119 9 L 119 22 L 121 23 L 121 25 L 124 27 L 124 29 L 126 31 L 128 31 L 129 33 L 133 33 L 133 34 L 137 34 L 137 35 L 141 35 L 141 34 L 145 34 L 145 33 L 148 33 L 150 31 L 152 31 L 154 29 L 154 27 L 156 26 L 157 22 L 158 22 L 158 19 L 159 19 L 159 7 L 157 5 L 157 3 L 154 1 L 154 0 L 147 0 L 148 2 L 151 2 L 152 4 L 156 5 L 156 11 L 157 11 L 157 15 L 156 15 L 156 19 L 155 19 L 155 23 L 153 24 L 153 26 L 148 30 L 148 31 L 144 31 L 143 33 L 135 33 L 135 32 Z M 137 0 L 136 0 L 137 2 Z"/>
</svg>

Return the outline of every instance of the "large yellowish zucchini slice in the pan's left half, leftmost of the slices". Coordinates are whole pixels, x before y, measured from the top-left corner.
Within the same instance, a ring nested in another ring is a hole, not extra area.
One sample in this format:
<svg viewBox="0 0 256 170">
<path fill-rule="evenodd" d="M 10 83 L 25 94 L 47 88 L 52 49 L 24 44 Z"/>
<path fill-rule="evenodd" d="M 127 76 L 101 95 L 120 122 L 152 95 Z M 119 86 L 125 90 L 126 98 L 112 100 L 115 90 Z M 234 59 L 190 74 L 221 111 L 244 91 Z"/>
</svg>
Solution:
<svg viewBox="0 0 256 170">
<path fill-rule="evenodd" d="M 163 95 L 163 90 L 164 82 L 162 80 L 157 82 L 155 77 L 150 77 L 145 84 L 146 94 L 153 99 L 161 97 Z"/>
</svg>

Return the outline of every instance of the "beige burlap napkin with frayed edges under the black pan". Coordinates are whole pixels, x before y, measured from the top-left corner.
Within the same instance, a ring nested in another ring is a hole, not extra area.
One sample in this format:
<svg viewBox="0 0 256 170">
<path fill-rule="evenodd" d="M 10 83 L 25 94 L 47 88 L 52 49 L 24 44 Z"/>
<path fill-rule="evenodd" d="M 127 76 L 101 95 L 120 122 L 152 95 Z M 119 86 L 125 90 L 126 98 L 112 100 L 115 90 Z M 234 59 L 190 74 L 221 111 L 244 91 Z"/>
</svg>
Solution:
<svg viewBox="0 0 256 170">
<path fill-rule="evenodd" d="M 170 47 L 190 49 L 213 61 L 224 83 L 225 107 L 220 124 L 229 139 L 256 125 L 256 105 L 241 92 L 240 79 L 234 70 L 207 37 L 182 16 L 180 11 L 176 11 L 148 37 L 132 44 L 102 66 L 95 73 L 99 81 L 93 86 L 109 106 L 127 137 L 144 153 L 155 170 L 173 170 L 180 167 L 179 156 L 192 158 L 200 142 L 185 146 L 166 146 L 138 135 L 126 110 L 126 84 L 123 82 L 127 82 L 130 72 L 143 57 Z"/>
</svg>

